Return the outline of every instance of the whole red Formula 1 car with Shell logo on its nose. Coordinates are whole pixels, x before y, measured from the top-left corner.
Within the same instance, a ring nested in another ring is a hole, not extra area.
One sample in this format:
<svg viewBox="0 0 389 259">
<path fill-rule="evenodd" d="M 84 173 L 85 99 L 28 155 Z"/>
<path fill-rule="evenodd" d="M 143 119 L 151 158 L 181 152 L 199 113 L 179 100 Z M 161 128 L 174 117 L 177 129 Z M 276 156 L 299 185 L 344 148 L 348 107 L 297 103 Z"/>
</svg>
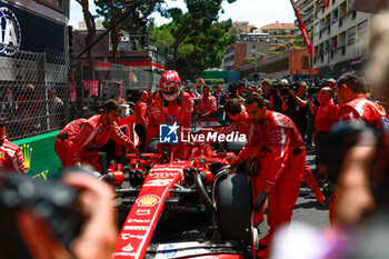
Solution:
<svg viewBox="0 0 389 259">
<path fill-rule="evenodd" d="M 112 258 L 255 258 L 251 179 L 223 168 L 235 155 L 205 142 L 156 149 L 142 160 L 127 155 L 117 189 L 127 217 Z"/>
</svg>

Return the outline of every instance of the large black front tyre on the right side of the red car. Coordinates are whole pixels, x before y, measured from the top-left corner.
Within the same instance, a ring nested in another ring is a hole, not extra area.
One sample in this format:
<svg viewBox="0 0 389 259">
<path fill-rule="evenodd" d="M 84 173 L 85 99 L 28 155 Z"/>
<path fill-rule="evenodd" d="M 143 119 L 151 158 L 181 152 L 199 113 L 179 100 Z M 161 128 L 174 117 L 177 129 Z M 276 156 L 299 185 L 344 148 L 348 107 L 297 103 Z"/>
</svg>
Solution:
<svg viewBox="0 0 389 259">
<path fill-rule="evenodd" d="M 220 237 L 251 242 L 251 178 L 247 173 L 222 177 L 217 182 L 216 197 Z"/>
</svg>

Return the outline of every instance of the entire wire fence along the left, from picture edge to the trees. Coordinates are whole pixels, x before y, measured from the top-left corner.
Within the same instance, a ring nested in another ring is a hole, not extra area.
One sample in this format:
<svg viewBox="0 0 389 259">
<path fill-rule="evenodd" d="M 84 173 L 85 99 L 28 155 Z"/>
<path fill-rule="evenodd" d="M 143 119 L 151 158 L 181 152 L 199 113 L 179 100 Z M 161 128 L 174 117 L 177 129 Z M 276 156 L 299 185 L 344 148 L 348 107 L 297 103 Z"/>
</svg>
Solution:
<svg viewBox="0 0 389 259">
<path fill-rule="evenodd" d="M 69 121 L 99 112 L 102 102 L 138 100 L 140 89 L 156 88 L 160 74 L 142 69 L 72 62 L 63 52 L 19 51 L 0 57 L 0 117 L 7 120 L 9 140 L 62 129 Z M 93 76 L 93 77 L 92 77 Z"/>
</svg>

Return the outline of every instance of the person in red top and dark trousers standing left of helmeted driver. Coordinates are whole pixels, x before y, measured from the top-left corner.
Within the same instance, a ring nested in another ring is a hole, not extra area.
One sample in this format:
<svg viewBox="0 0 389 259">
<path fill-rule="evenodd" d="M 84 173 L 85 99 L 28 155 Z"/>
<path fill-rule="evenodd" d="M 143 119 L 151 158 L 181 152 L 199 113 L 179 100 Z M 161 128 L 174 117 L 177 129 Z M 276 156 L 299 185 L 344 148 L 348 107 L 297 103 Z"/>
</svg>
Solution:
<svg viewBox="0 0 389 259">
<path fill-rule="evenodd" d="M 139 152 L 144 152 L 146 132 L 149 127 L 149 117 L 147 116 L 147 101 L 149 100 L 148 92 L 141 91 L 139 101 L 133 108 L 136 132 L 139 137 L 140 145 L 138 147 Z"/>
</svg>

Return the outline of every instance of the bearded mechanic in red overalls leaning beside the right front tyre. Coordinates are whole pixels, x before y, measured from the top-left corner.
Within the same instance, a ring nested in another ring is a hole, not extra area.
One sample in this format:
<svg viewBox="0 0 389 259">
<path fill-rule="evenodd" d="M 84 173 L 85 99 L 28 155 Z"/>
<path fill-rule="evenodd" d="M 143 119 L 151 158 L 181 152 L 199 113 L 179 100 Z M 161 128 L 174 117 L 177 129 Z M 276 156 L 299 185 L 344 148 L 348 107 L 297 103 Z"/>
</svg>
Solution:
<svg viewBox="0 0 389 259">
<path fill-rule="evenodd" d="M 289 223 L 298 199 L 305 170 L 306 149 L 301 136 L 290 118 L 266 109 L 265 99 L 251 94 L 246 111 L 255 127 L 248 143 L 231 166 L 257 153 L 259 166 L 253 177 L 255 207 L 259 209 L 268 198 L 269 233 L 260 239 L 270 246 L 271 238 L 283 223 Z"/>
</svg>

